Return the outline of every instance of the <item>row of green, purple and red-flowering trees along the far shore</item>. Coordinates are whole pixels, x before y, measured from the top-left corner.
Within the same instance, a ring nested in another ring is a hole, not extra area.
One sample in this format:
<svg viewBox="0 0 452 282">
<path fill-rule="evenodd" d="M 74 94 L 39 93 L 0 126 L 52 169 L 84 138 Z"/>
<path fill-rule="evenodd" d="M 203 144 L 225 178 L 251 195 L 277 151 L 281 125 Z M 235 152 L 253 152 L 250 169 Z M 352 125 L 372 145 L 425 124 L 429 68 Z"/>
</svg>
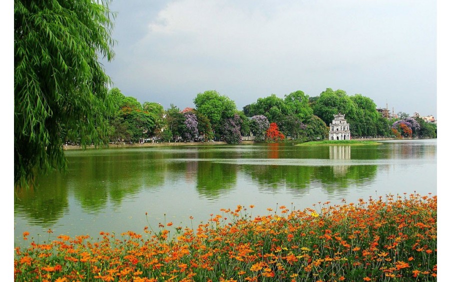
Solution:
<svg viewBox="0 0 452 282">
<path fill-rule="evenodd" d="M 271 94 L 243 110 L 214 90 L 198 93 L 193 100 L 195 108 L 182 110 L 174 105 L 165 110 L 156 102 L 141 104 L 134 97 L 124 96 L 118 88 L 110 90 L 108 97 L 116 109 L 109 123 L 110 142 L 216 140 L 234 144 L 251 135 L 255 141 L 268 142 L 323 140 L 328 137 L 327 125 L 337 113 L 345 115 L 355 138 L 436 137 L 435 125 L 420 118 L 384 118 L 372 99 L 361 94 L 348 96 L 340 89 L 327 88 L 316 97 L 300 90 L 284 98 Z"/>
</svg>

